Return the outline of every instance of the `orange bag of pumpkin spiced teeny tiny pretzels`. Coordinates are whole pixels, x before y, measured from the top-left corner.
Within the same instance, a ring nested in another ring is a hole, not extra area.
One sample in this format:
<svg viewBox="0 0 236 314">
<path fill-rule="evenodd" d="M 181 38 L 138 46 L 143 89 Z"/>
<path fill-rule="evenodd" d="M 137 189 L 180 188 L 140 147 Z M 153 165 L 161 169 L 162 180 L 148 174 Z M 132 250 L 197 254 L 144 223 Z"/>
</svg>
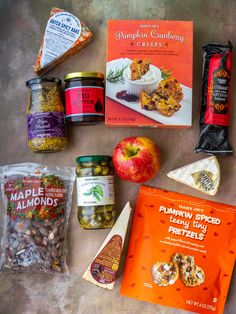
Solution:
<svg viewBox="0 0 236 314">
<path fill-rule="evenodd" d="M 223 313 L 235 252 L 235 206 L 142 186 L 121 294 Z"/>
</svg>

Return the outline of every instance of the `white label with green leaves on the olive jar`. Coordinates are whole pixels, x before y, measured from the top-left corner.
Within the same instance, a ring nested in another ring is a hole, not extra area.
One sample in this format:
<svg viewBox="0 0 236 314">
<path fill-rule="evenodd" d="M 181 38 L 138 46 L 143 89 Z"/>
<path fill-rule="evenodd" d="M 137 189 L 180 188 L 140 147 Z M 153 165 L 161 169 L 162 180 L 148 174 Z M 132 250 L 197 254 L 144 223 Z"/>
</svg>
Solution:
<svg viewBox="0 0 236 314">
<path fill-rule="evenodd" d="M 77 178 L 77 201 L 78 206 L 115 204 L 114 177 Z"/>
</svg>

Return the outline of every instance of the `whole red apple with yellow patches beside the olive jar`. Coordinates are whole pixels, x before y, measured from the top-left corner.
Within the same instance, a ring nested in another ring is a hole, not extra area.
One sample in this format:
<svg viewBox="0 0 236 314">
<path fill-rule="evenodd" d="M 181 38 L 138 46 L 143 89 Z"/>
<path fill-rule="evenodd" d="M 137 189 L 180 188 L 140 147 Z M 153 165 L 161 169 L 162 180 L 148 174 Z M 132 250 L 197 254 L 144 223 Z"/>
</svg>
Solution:
<svg viewBox="0 0 236 314">
<path fill-rule="evenodd" d="M 127 137 L 115 147 L 112 160 L 121 179 L 142 183 L 159 171 L 160 149 L 148 137 Z"/>
</svg>

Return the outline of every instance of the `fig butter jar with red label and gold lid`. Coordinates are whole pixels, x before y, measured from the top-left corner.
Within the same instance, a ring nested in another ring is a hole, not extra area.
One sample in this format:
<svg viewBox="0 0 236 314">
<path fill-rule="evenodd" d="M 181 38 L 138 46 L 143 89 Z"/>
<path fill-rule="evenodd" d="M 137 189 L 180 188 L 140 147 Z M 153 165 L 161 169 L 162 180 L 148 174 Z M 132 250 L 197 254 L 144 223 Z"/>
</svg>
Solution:
<svg viewBox="0 0 236 314">
<path fill-rule="evenodd" d="M 75 72 L 65 75 L 66 122 L 72 125 L 104 121 L 104 74 Z"/>
</svg>

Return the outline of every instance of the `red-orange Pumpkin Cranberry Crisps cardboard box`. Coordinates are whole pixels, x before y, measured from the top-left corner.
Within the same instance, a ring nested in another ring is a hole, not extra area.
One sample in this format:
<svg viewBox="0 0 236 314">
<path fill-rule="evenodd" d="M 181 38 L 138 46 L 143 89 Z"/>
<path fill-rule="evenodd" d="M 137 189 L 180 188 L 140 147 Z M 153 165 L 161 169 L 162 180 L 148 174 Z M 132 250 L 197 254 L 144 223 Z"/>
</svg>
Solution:
<svg viewBox="0 0 236 314">
<path fill-rule="evenodd" d="M 109 20 L 106 125 L 192 124 L 193 22 Z"/>
</svg>

